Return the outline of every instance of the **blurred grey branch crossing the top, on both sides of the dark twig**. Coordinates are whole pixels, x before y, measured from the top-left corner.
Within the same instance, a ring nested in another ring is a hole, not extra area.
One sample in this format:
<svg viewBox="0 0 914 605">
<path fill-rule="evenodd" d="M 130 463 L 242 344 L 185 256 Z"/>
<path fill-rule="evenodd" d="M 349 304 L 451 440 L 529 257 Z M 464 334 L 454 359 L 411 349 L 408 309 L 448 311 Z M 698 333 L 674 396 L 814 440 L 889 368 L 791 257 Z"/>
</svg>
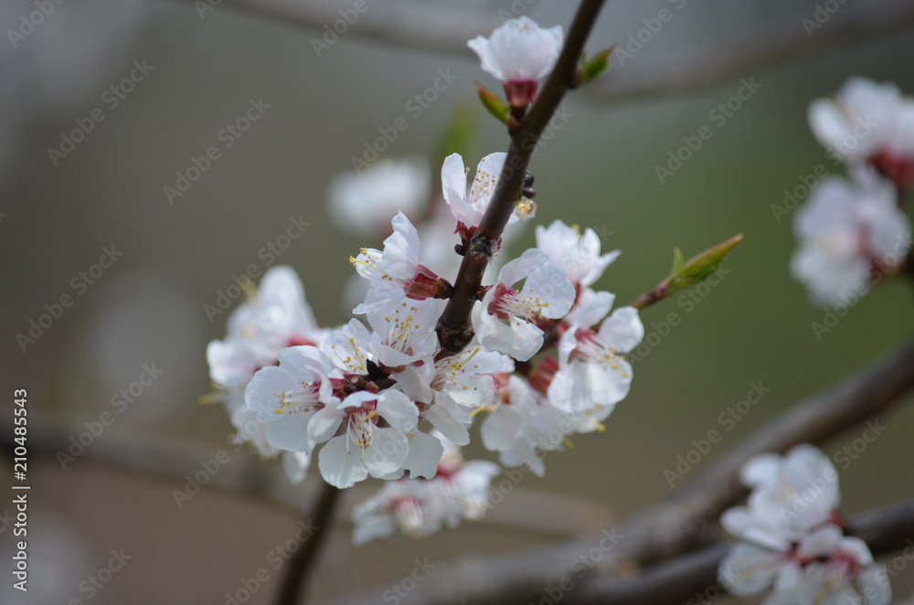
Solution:
<svg viewBox="0 0 914 605">
<path fill-rule="evenodd" d="M 199 2 L 209 5 L 207 0 L 180 1 L 189 7 Z M 222 0 L 214 10 L 228 7 L 284 25 L 313 29 L 314 39 L 323 42 L 324 26 L 332 28 L 342 18 L 339 11 L 352 9 L 353 5 L 352 0 Z M 502 24 L 492 9 L 406 2 L 368 6 L 343 36 L 471 58 L 467 40 L 488 35 Z M 596 101 L 618 102 L 704 90 L 761 69 L 885 37 L 914 25 L 914 4 L 908 0 L 871 0 L 866 4 L 842 5 L 809 36 L 802 19 L 812 18 L 813 7 L 806 10 L 808 13 L 783 18 L 774 25 L 740 31 L 736 36 L 691 52 L 677 53 L 674 58 L 639 60 L 638 69 L 616 65 L 600 79 L 602 84 L 587 87 L 585 95 Z M 641 27 L 640 21 L 637 26 Z M 619 42 L 622 44 L 624 40 Z"/>
</svg>

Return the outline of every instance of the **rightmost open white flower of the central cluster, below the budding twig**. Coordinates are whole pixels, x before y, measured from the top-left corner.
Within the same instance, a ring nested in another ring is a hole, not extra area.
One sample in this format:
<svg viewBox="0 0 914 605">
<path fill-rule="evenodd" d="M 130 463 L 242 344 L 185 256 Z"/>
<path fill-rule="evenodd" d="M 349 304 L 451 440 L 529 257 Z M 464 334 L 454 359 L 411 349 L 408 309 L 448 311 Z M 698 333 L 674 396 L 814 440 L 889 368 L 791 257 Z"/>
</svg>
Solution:
<svg viewBox="0 0 914 605">
<path fill-rule="evenodd" d="M 644 336 L 637 309 L 620 307 L 603 320 L 597 332 L 590 329 L 606 314 L 613 299 L 609 292 L 594 294 L 576 324 L 562 334 L 560 367 L 547 391 L 556 408 L 578 413 L 600 406 L 605 418 L 628 395 L 632 366 L 621 354 L 631 351 Z"/>
</svg>

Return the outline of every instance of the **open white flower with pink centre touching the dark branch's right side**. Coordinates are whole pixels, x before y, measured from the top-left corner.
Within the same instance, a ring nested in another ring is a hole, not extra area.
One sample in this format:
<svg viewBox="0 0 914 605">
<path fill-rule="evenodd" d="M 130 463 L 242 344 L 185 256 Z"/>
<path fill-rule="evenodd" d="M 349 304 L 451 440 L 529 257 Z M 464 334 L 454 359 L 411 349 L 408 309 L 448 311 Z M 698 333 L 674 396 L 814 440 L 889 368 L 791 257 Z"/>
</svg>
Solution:
<svg viewBox="0 0 914 605">
<path fill-rule="evenodd" d="M 543 330 L 537 322 L 564 317 L 575 299 L 565 271 L 547 260 L 546 252 L 528 249 L 499 271 L 497 283 L 483 298 L 476 332 L 481 345 L 518 361 L 537 354 L 543 345 Z M 514 290 L 511 286 L 521 280 L 524 288 Z"/>
</svg>

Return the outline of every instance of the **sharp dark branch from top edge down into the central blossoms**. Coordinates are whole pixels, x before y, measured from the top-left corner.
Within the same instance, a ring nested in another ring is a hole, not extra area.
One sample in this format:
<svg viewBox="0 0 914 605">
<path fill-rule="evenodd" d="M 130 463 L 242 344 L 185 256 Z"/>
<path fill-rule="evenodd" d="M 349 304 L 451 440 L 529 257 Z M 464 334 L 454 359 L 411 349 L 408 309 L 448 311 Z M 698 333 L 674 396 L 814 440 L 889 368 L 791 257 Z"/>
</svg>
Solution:
<svg viewBox="0 0 914 605">
<path fill-rule="evenodd" d="M 479 286 L 483 281 L 485 268 L 497 249 L 508 218 L 514 211 L 515 203 L 521 197 L 526 166 L 537 147 L 539 135 L 546 128 L 552 114 L 558 108 L 568 91 L 574 85 L 580 53 L 590 35 L 604 0 L 584 0 L 571 23 L 565 46 L 558 56 L 546 84 L 539 91 L 537 101 L 530 108 L 520 127 L 511 134 L 505 165 L 492 201 L 480 221 L 473 239 L 463 256 L 460 271 L 454 281 L 454 289 L 444 313 L 438 321 L 438 339 L 441 348 L 448 353 L 459 353 L 473 339 L 473 322 L 470 314 L 476 303 Z"/>
</svg>

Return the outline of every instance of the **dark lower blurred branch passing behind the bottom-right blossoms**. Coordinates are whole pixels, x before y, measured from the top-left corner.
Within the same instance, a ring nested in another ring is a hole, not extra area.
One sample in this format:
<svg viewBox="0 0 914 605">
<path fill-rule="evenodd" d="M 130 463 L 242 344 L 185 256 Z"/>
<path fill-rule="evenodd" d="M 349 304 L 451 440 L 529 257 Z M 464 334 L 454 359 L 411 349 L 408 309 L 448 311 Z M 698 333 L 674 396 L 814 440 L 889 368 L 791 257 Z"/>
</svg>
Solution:
<svg viewBox="0 0 914 605">
<path fill-rule="evenodd" d="M 914 537 L 914 499 L 856 515 L 847 533 L 863 539 L 874 557 L 907 546 Z M 569 604 L 677 605 L 717 585 L 717 567 L 731 544 L 717 544 L 645 569 L 635 578 L 594 578 L 569 593 Z M 714 600 L 709 597 L 708 600 Z"/>
</svg>

